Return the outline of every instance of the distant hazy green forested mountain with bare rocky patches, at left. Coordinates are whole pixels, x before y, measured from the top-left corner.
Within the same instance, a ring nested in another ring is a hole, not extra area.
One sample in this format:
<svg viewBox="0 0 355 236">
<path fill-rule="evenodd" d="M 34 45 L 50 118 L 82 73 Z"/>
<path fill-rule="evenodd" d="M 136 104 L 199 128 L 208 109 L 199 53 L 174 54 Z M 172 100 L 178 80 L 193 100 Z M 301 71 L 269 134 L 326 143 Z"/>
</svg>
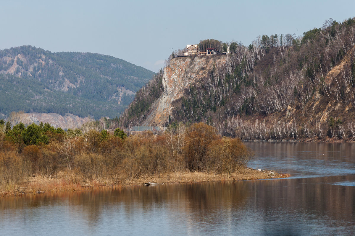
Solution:
<svg viewBox="0 0 355 236">
<path fill-rule="evenodd" d="M 0 51 L 0 113 L 116 117 L 154 73 L 97 53 L 52 53 L 32 46 Z"/>
</svg>

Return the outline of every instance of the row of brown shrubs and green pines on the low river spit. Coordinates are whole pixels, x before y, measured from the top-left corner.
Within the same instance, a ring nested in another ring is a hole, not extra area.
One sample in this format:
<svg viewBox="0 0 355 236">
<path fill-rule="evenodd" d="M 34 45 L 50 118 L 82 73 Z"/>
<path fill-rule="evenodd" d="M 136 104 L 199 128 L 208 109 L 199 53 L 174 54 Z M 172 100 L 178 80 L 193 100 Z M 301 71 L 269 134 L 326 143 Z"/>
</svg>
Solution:
<svg viewBox="0 0 355 236">
<path fill-rule="evenodd" d="M 204 123 L 175 124 L 161 135 L 127 137 L 97 122 L 63 131 L 50 124 L 0 121 L 0 186 L 17 186 L 32 175 L 83 183 L 125 184 L 141 177 L 176 172 L 223 173 L 244 168 L 252 153 L 240 139 L 222 137 Z"/>
</svg>

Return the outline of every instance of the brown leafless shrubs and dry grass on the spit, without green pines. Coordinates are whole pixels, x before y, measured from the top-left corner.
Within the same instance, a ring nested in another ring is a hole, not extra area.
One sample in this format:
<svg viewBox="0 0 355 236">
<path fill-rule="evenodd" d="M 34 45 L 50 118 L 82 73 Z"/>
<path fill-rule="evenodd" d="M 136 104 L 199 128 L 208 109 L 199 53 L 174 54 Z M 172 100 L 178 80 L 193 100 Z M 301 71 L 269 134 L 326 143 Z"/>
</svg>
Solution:
<svg viewBox="0 0 355 236">
<path fill-rule="evenodd" d="M 255 175 L 255 171 L 245 173 L 251 151 L 240 139 L 221 137 L 204 123 L 170 127 L 158 136 L 142 132 L 124 139 L 86 124 L 80 130 L 51 133 L 50 137 L 48 145 L 22 149 L 16 149 L 16 143 L 2 142 L 1 195 L 148 181 L 271 178 Z"/>
</svg>

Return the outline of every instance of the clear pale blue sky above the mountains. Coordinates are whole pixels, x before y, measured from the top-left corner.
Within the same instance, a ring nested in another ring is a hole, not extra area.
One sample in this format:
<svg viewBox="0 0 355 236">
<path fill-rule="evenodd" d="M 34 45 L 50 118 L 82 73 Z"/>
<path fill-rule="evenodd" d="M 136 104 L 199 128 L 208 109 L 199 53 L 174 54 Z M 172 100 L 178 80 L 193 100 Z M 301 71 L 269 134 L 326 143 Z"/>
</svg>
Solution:
<svg viewBox="0 0 355 236">
<path fill-rule="evenodd" d="M 32 45 L 93 52 L 157 72 L 172 51 L 202 39 L 249 45 L 355 17 L 354 0 L 0 0 L 0 50 Z"/>
</svg>

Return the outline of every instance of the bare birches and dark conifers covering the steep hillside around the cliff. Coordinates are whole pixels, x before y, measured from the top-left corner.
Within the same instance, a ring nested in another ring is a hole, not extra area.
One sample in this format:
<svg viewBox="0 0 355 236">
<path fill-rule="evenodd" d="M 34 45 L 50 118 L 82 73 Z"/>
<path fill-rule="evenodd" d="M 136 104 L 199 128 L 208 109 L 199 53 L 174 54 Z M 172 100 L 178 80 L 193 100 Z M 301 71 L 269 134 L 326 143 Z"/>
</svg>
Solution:
<svg viewBox="0 0 355 236">
<path fill-rule="evenodd" d="M 208 45 L 209 42 L 211 40 L 202 40 L 199 45 Z M 212 42 L 217 44 L 217 41 Z M 322 28 L 308 30 L 301 37 L 260 35 L 249 46 L 236 42 L 225 44 L 231 51 L 227 63 L 214 67 L 210 76 L 191 84 L 171 114 L 170 122 L 202 121 L 216 127 L 223 135 L 239 135 L 248 139 L 354 137 L 352 131 L 355 126 L 351 119 L 329 117 L 327 122 L 314 120 L 305 124 L 297 122 L 298 117 L 289 117 L 289 120 L 274 124 L 259 121 L 260 125 L 245 120 L 248 117 L 260 117 L 262 120 L 294 105 L 298 110 L 305 109 L 315 92 L 327 99 L 351 104 L 354 109 L 353 52 L 350 63 L 342 68 L 342 76 L 329 85 L 325 78 L 353 49 L 355 18 L 341 23 L 329 19 Z M 223 47 L 222 42 L 220 46 Z M 162 94 L 160 81 L 154 81 L 149 82 L 144 91 L 160 88 Z M 147 107 L 153 102 L 151 98 L 136 97 L 121 117 L 121 124 L 138 125 L 144 121 L 149 114 Z M 139 104 L 144 104 L 144 107 L 139 107 Z"/>
</svg>

